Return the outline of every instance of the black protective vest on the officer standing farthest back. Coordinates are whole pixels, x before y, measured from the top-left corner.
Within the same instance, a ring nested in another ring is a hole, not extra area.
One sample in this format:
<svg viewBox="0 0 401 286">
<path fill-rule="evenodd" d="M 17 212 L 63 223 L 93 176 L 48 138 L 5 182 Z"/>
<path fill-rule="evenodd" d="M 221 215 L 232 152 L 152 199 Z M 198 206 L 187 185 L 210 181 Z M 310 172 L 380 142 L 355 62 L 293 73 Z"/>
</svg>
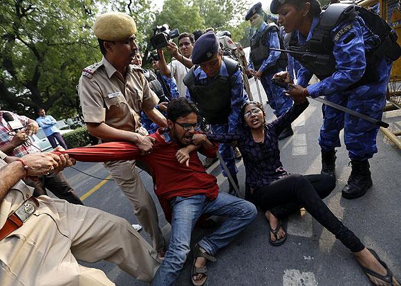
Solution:
<svg viewBox="0 0 401 286">
<path fill-rule="evenodd" d="M 266 28 L 261 32 L 258 33 L 255 37 L 251 39 L 251 51 L 250 57 L 252 64 L 254 66 L 254 70 L 258 71 L 261 65 L 263 64 L 263 60 L 267 59 L 270 53 L 270 48 L 265 46 L 267 41 L 267 37 L 269 36 L 270 32 L 276 31 L 277 35 L 279 35 L 279 42 L 280 48 L 284 48 L 283 39 L 280 35 L 279 27 L 276 24 L 268 24 Z M 275 73 L 277 72 L 277 68 L 285 68 L 288 64 L 288 56 L 286 53 L 281 53 L 279 59 L 276 61 L 274 66 L 270 66 L 268 69 L 263 71 L 263 73 Z"/>
</svg>

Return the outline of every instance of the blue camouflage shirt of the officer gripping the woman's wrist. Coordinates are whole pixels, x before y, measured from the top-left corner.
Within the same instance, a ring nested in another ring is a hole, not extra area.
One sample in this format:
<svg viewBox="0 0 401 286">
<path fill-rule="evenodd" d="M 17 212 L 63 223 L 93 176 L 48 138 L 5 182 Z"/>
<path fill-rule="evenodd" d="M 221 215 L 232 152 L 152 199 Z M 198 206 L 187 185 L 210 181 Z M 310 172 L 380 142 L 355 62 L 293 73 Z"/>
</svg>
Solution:
<svg viewBox="0 0 401 286">
<path fill-rule="evenodd" d="M 312 37 L 313 30 L 319 24 L 319 19 L 319 17 L 313 18 L 308 37 L 305 38 L 301 33 L 293 35 L 298 37 L 299 44 L 305 44 Z M 344 91 L 360 80 L 364 74 L 366 68 L 365 50 L 369 51 L 375 47 L 378 37 L 366 28 L 362 18 L 355 17 L 351 21 L 344 21 L 335 26 L 331 33 L 332 38 L 340 29 L 349 24 L 351 24 L 351 29 L 347 33 L 344 33 L 337 41 L 333 39 L 333 55 L 336 62 L 335 72 L 330 77 L 307 87 L 308 93 L 313 98 Z M 348 40 L 347 38 L 351 33 L 353 33 L 354 37 Z M 306 87 L 312 75 L 313 73 L 302 66 L 298 72 L 297 84 Z"/>
</svg>

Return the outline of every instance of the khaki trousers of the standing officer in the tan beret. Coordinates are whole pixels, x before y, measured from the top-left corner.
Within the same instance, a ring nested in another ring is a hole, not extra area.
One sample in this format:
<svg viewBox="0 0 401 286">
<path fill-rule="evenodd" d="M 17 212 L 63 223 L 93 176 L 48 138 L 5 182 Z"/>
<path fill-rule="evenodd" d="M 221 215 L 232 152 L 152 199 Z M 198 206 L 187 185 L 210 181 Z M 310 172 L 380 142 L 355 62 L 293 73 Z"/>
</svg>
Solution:
<svg viewBox="0 0 401 286">
<path fill-rule="evenodd" d="M 110 161 L 105 162 L 104 166 L 131 201 L 133 213 L 144 231 L 151 235 L 154 249 L 156 251 L 165 249 L 165 239 L 159 227 L 158 212 L 151 195 L 144 188 L 140 179 L 136 161 Z"/>
</svg>

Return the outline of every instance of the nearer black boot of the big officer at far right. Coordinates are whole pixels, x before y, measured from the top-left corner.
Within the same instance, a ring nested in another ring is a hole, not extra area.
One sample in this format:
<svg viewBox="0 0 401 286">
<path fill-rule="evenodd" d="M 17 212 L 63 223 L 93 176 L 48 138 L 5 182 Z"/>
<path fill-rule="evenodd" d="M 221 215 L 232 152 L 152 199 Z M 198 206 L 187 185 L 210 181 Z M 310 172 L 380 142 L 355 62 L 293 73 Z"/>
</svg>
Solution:
<svg viewBox="0 0 401 286">
<path fill-rule="evenodd" d="M 369 161 L 351 160 L 352 170 L 348 178 L 348 183 L 342 189 L 344 199 L 357 199 L 365 195 L 366 190 L 372 186 L 371 171 Z"/>
</svg>

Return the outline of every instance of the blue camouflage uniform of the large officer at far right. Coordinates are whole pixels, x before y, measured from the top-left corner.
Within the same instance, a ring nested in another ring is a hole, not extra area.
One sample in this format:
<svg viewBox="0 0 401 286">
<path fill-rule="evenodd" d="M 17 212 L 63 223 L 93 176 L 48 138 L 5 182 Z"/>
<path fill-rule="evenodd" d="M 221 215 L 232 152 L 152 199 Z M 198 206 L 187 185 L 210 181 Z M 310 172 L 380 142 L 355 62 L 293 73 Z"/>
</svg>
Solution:
<svg viewBox="0 0 401 286">
<path fill-rule="evenodd" d="M 314 17 L 310 33 L 305 39 L 300 33 L 293 33 L 293 37 L 298 37 L 299 44 L 304 44 L 312 36 L 313 30 L 319 23 L 319 17 Z M 351 24 L 351 28 L 346 29 L 337 40 L 334 35 Z M 297 31 L 295 31 L 297 32 Z M 352 37 L 353 35 L 355 37 Z M 364 21 L 360 17 L 355 17 L 352 21 L 344 21 L 332 30 L 333 55 L 336 61 L 336 71 L 332 76 L 321 80 L 307 87 L 308 93 L 313 98 L 325 96 L 327 100 L 338 105 L 348 107 L 380 120 L 382 109 L 386 104 L 386 89 L 389 82 L 391 71 L 391 60 L 383 57 L 376 66 L 375 71 L 379 75 L 379 80 L 375 83 L 365 84 L 355 89 L 348 89 L 364 74 L 366 68 L 365 51 L 371 50 L 377 44 L 377 36 L 366 28 Z M 351 40 L 349 40 L 351 38 Z M 305 67 L 298 72 L 297 84 L 303 87 L 308 85 L 312 73 Z M 344 128 L 344 142 L 349 153 L 350 159 L 362 161 L 373 157 L 377 152 L 376 136 L 379 130 L 377 125 L 366 120 L 344 114 L 333 107 L 323 106 L 324 123 L 320 129 L 319 145 L 321 150 L 330 151 L 335 147 L 341 146 L 339 132 Z"/>
</svg>

